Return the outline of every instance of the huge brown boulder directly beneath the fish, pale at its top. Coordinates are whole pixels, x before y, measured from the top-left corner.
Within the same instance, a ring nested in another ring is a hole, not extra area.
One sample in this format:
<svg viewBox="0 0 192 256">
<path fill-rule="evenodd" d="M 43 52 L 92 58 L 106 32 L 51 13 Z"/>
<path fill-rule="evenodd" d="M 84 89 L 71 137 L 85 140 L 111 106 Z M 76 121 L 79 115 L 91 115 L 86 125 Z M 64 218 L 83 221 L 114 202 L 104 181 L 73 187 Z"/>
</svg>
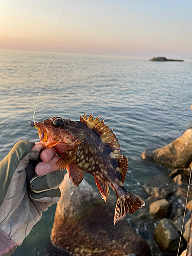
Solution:
<svg viewBox="0 0 192 256">
<path fill-rule="evenodd" d="M 51 232 L 54 246 L 81 256 L 150 255 L 148 244 L 126 220 L 113 225 L 116 198 L 110 196 L 104 203 L 86 180 L 75 188 L 68 175 L 60 190 Z"/>
</svg>

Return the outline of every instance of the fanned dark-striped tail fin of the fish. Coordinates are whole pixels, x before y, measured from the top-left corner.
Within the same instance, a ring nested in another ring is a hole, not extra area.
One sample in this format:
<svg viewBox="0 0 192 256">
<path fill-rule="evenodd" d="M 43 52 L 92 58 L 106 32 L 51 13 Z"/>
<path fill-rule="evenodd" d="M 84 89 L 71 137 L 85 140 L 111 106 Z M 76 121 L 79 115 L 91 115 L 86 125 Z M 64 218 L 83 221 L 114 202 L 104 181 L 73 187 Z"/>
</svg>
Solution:
<svg viewBox="0 0 192 256">
<path fill-rule="evenodd" d="M 114 225 L 116 222 L 123 220 L 127 212 L 129 212 L 130 214 L 134 214 L 134 212 L 142 208 L 144 205 L 145 202 L 140 197 L 127 191 L 127 193 L 123 197 L 117 199 L 117 204 L 115 207 Z"/>
</svg>

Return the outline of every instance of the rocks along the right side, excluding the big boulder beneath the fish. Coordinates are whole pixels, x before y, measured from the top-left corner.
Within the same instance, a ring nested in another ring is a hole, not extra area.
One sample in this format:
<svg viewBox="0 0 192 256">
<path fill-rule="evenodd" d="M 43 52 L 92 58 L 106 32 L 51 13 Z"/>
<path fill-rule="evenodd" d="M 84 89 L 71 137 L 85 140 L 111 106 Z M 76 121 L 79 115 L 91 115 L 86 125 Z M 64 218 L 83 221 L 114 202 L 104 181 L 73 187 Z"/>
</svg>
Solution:
<svg viewBox="0 0 192 256">
<path fill-rule="evenodd" d="M 192 209 L 192 191 L 189 189 L 186 215 L 184 206 L 186 203 L 187 187 L 192 160 L 192 129 L 168 145 L 158 148 L 153 152 L 143 151 L 141 157 L 145 161 L 155 161 L 168 167 L 169 177 L 172 183 L 168 188 L 144 186 L 149 195 L 149 212 L 154 221 L 153 238 L 163 255 L 177 254 L 180 236 L 180 252 L 186 249 L 190 216 Z M 161 181 L 159 181 L 161 184 Z M 182 235 L 181 235 L 182 232 Z M 154 254 L 161 255 L 161 254 Z"/>
</svg>

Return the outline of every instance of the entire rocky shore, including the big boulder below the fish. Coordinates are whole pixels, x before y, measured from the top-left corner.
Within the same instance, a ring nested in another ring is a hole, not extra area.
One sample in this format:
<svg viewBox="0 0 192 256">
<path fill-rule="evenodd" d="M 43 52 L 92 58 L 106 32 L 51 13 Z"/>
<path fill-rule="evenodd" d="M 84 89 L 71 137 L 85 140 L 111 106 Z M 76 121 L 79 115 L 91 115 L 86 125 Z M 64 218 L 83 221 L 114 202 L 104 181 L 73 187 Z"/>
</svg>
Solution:
<svg viewBox="0 0 192 256">
<path fill-rule="evenodd" d="M 146 164 L 155 161 L 168 167 L 168 181 L 161 176 L 148 180 L 143 186 L 146 206 L 115 226 L 116 198 L 110 195 L 104 203 L 86 180 L 75 188 L 66 174 L 51 232 L 52 249 L 46 256 L 177 255 L 181 236 L 180 255 L 186 249 L 192 209 L 189 190 L 184 218 L 191 152 L 192 129 L 164 147 L 144 151 Z"/>
</svg>

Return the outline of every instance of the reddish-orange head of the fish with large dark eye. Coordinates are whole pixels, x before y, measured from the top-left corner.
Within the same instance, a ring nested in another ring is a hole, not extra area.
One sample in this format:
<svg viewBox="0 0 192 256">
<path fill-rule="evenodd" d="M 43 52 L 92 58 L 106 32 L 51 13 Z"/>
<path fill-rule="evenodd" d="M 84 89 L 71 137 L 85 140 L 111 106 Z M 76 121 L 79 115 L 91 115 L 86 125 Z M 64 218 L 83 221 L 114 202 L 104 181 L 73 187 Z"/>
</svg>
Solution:
<svg viewBox="0 0 192 256">
<path fill-rule="evenodd" d="M 74 121 L 61 117 L 52 117 L 39 122 L 34 121 L 42 147 L 46 149 L 55 146 L 56 150 L 58 149 L 57 152 L 61 154 L 63 151 L 74 149 L 82 143 L 86 136 L 84 131 L 73 127 L 71 122 Z"/>
</svg>

